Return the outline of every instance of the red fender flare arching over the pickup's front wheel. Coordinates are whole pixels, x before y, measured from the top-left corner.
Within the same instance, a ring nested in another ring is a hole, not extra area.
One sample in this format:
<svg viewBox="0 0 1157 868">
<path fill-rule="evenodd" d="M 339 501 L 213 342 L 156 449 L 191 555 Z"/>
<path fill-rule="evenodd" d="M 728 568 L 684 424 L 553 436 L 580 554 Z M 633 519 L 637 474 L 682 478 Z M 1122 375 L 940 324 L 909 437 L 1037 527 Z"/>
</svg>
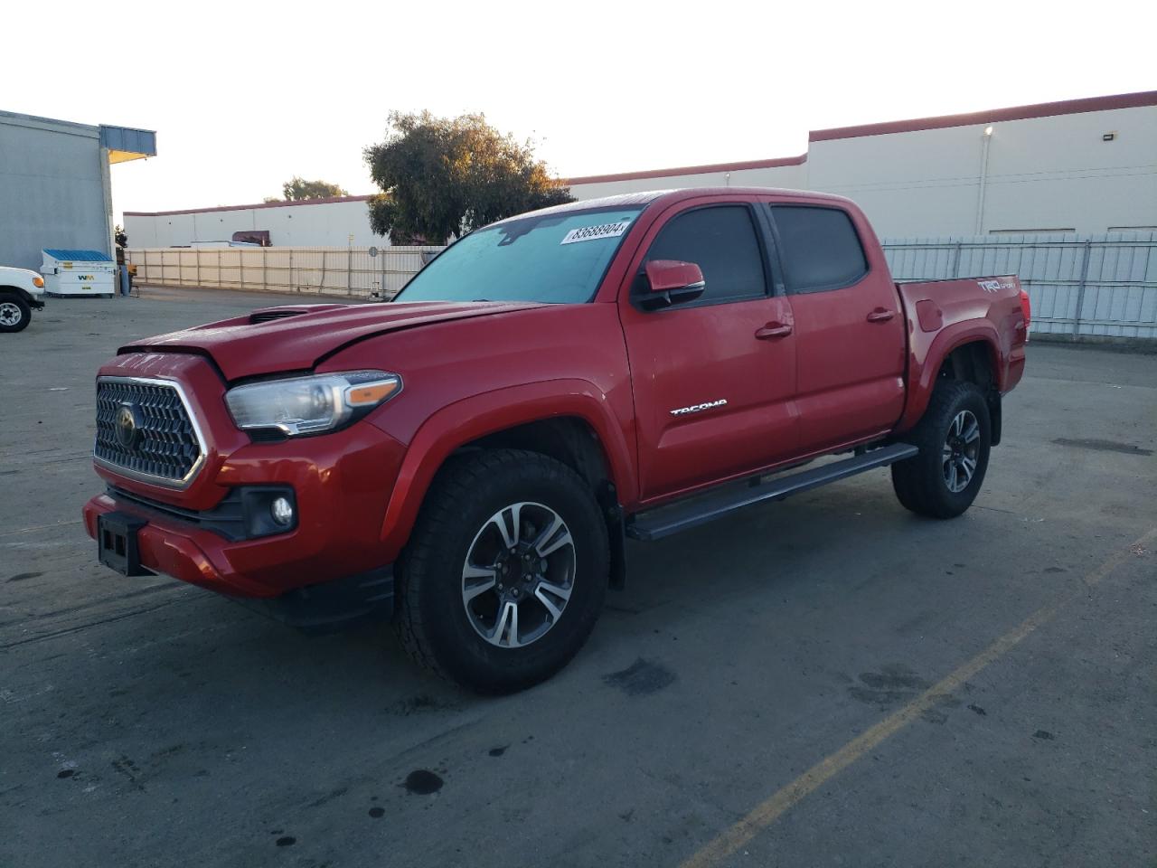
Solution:
<svg viewBox="0 0 1157 868">
<path fill-rule="evenodd" d="M 434 476 L 456 449 L 487 434 L 558 417 L 577 417 L 590 425 L 620 499 L 633 499 L 636 483 L 627 439 L 606 395 L 595 385 L 551 380 L 482 392 L 439 410 L 414 433 L 382 522 L 386 560 L 400 554 Z"/>
</svg>

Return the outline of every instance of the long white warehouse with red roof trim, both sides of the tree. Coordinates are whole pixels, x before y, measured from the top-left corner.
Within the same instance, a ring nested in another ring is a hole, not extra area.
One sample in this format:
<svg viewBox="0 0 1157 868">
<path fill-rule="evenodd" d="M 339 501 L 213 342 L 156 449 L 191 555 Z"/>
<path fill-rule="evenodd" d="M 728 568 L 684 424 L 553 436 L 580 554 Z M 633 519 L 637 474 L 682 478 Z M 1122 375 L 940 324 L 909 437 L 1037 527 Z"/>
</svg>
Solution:
<svg viewBox="0 0 1157 868">
<path fill-rule="evenodd" d="M 815 190 L 857 201 L 882 237 L 1157 229 L 1157 91 L 817 130 L 808 153 L 569 178 L 578 199 L 686 186 Z M 383 247 L 366 196 L 125 212 L 132 247 L 229 241 Z"/>
</svg>

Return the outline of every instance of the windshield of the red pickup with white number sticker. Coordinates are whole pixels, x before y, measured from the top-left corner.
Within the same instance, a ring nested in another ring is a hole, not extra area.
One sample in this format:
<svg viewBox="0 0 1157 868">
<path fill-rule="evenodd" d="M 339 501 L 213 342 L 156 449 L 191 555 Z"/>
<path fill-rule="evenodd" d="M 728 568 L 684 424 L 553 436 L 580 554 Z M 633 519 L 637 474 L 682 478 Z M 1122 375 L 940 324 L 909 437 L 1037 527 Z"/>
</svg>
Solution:
<svg viewBox="0 0 1157 868">
<path fill-rule="evenodd" d="M 640 211 L 565 211 L 479 229 L 415 274 L 395 300 L 588 302 Z"/>
</svg>

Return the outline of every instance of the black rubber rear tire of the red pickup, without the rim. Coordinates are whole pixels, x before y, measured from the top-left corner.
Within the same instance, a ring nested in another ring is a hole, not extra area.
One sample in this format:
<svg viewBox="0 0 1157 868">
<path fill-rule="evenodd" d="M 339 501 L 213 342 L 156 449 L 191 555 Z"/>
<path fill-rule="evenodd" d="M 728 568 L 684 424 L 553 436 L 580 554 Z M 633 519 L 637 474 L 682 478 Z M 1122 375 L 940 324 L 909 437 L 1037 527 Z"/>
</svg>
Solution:
<svg viewBox="0 0 1157 868">
<path fill-rule="evenodd" d="M 952 420 L 968 411 L 980 427 L 977 468 L 963 491 L 953 492 L 945 479 L 943 449 Z M 892 465 L 892 487 L 900 503 L 916 515 L 955 518 L 964 513 L 985 480 L 990 449 L 990 420 L 985 393 L 974 383 L 941 380 L 933 391 L 923 418 L 904 439 L 920 448 L 920 455 Z"/>
</svg>

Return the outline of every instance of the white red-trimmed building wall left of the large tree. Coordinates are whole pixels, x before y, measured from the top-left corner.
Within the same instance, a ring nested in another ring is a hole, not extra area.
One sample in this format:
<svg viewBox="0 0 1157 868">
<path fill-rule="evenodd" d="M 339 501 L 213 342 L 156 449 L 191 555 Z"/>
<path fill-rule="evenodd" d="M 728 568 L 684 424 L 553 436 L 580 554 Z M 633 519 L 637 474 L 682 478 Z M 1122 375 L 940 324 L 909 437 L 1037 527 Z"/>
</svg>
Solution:
<svg viewBox="0 0 1157 868">
<path fill-rule="evenodd" d="M 364 197 L 341 201 L 208 208 L 193 213 L 125 212 L 125 231 L 134 248 L 184 247 L 194 241 L 229 241 L 235 231 L 267 229 L 274 247 L 385 247 L 369 228 Z"/>
</svg>

